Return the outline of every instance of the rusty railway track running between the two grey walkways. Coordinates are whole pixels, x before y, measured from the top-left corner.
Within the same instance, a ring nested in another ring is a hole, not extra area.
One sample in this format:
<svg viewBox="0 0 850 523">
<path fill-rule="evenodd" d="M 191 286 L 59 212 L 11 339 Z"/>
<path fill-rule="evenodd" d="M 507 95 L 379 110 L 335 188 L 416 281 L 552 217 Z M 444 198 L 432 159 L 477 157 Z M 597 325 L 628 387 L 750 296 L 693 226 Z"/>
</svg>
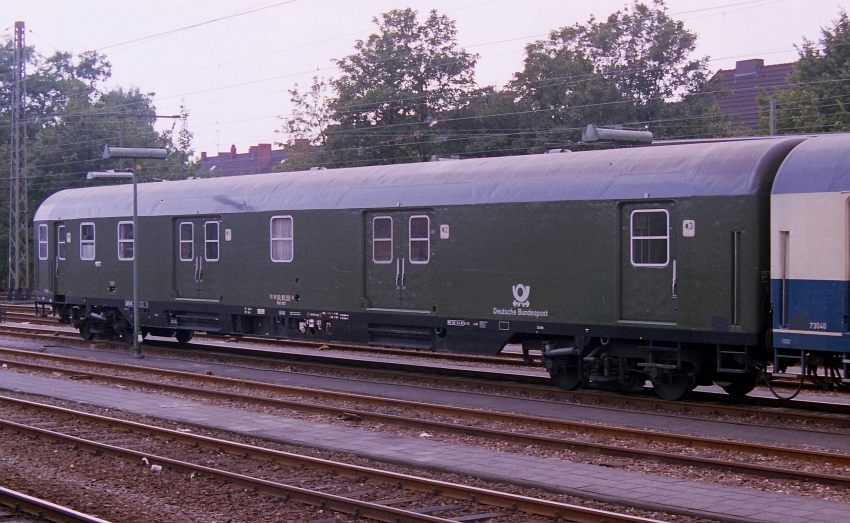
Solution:
<svg viewBox="0 0 850 523">
<path fill-rule="evenodd" d="M 51 364 L 26 362 L 21 361 L 22 359 L 46 359 Z M 245 405 L 271 406 L 310 415 L 322 414 L 329 421 L 341 418 L 434 434 L 472 436 L 520 446 L 531 445 L 583 454 L 723 470 L 756 477 L 850 487 L 850 474 L 836 472 L 850 471 L 850 455 L 834 452 L 735 442 L 631 427 L 603 426 L 514 413 L 503 414 L 484 409 L 307 389 L 121 363 L 94 362 L 11 349 L 0 350 L 0 362 L 13 370 L 17 367 L 47 374 L 62 373 L 72 379 L 91 379 L 146 390 L 168 391 L 205 400 L 211 398 L 217 401 L 241 402 Z M 105 373 L 103 370 L 109 370 L 111 373 Z M 119 373 L 121 375 L 118 375 Z M 130 375 L 131 373 L 133 375 Z M 139 377 L 138 374 L 142 376 Z M 151 374 L 160 381 L 145 377 Z M 446 419 L 450 421 L 445 421 Z M 477 426 L 482 422 L 496 424 L 497 428 Z M 607 442 L 608 439 L 614 439 L 615 442 Z M 650 448 L 636 448 L 630 442 L 638 442 Z M 652 445 L 663 445 L 664 450 L 653 450 Z M 790 465 L 762 463 L 761 460 L 781 460 Z M 818 470 L 809 470 L 808 467 L 812 466 L 816 466 Z"/>
</svg>

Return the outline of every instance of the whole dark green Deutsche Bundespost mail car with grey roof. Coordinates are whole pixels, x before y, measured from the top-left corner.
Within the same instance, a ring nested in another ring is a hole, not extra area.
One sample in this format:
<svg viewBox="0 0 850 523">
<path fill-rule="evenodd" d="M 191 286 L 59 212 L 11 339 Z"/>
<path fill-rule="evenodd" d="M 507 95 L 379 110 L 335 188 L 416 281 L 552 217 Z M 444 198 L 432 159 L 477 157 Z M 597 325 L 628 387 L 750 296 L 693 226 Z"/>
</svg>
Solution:
<svg viewBox="0 0 850 523">
<path fill-rule="evenodd" d="M 769 193 L 802 138 L 71 189 L 37 300 L 143 331 L 542 352 L 564 388 L 730 392 L 769 357 Z"/>
</svg>

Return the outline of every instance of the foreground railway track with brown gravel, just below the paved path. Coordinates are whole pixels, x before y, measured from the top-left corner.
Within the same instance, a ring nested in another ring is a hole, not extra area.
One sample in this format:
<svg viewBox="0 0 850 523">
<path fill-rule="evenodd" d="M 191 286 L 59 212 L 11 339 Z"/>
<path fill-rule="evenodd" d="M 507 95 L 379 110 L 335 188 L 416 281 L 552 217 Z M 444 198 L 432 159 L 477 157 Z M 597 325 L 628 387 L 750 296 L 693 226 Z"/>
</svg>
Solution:
<svg viewBox="0 0 850 523">
<path fill-rule="evenodd" d="M 232 483 L 351 517 L 390 522 L 649 520 L 329 461 L 78 410 L 0 397 L 0 428 L 75 451 Z M 13 418 L 13 419 L 9 419 Z M 9 437 L 9 436 L 5 436 Z M 332 520 L 328 520 L 332 521 Z"/>
</svg>

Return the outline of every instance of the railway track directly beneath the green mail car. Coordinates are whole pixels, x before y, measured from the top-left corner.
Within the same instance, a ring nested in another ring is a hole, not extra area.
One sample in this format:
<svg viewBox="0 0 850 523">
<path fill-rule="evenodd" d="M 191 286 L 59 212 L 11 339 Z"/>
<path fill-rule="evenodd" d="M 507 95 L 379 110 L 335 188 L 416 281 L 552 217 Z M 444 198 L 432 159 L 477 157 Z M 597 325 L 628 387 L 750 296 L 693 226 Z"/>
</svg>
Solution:
<svg viewBox="0 0 850 523">
<path fill-rule="evenodd" d="M 0 325 L 0 334 L 24 337 L 47 346 L 61 342 L 72 346 L 112 347 L 126 346 L 117 342 L 90 342 L 82 340 L 76 331 L 67 327 L 41 327 Z M 669 412 L 688 416 L 729 416 L 744 420 L 795 423 L 825 423 L 836 427 L 850 427 L 850 407 L 842 403 L 795 399 L 753 397 L 731 398 L 724 393 L 698 391 L 689 401 L 665 401 L 654 394 L 612 394 L 593 390 L 562 391 L 555 388 L 548 375 L 541 371 L 525 369 L 480 368 L 464 365 L 440 365 L 431 361 L 404 360 L 379 357 L 352 357 L 324 350 L 303 350 L 285 347 L 234 346 L 228 342 L 198 341 L 180 348 L 168 341 L 148 340 L 148 353 L 189 356 L 197 358 L 227 358 L 235 364 L 274 365 L 277 368 L 297 367 L 299 372 L 330 374 L 394 381 L 399 379 L 427 380 L 443 387 L 465 387 L 469 390 L 491 388 L 503 394 L 523 397 L 536 396 L 568 403 L 591 406 L 639 409 Z"/>
</svg>

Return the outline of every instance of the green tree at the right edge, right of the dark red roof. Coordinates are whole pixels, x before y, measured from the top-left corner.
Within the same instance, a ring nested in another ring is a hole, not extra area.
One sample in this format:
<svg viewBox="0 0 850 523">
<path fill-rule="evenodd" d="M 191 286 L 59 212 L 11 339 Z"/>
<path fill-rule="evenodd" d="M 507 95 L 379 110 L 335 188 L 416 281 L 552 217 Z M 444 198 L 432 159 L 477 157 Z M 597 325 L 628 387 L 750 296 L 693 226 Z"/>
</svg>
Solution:
<svg viewBox="0 0 850 523">
<path fill-rule="evenodd" d="M 850 130 L 850 19 L 842 10 L 819 44 L 804 40 L 788 75 L 791 87 L 774 94 L 776 131 L 823 133 Z M 759 96 L 761 126 L 770 128 L 769 96 Z"/>
</svg>

